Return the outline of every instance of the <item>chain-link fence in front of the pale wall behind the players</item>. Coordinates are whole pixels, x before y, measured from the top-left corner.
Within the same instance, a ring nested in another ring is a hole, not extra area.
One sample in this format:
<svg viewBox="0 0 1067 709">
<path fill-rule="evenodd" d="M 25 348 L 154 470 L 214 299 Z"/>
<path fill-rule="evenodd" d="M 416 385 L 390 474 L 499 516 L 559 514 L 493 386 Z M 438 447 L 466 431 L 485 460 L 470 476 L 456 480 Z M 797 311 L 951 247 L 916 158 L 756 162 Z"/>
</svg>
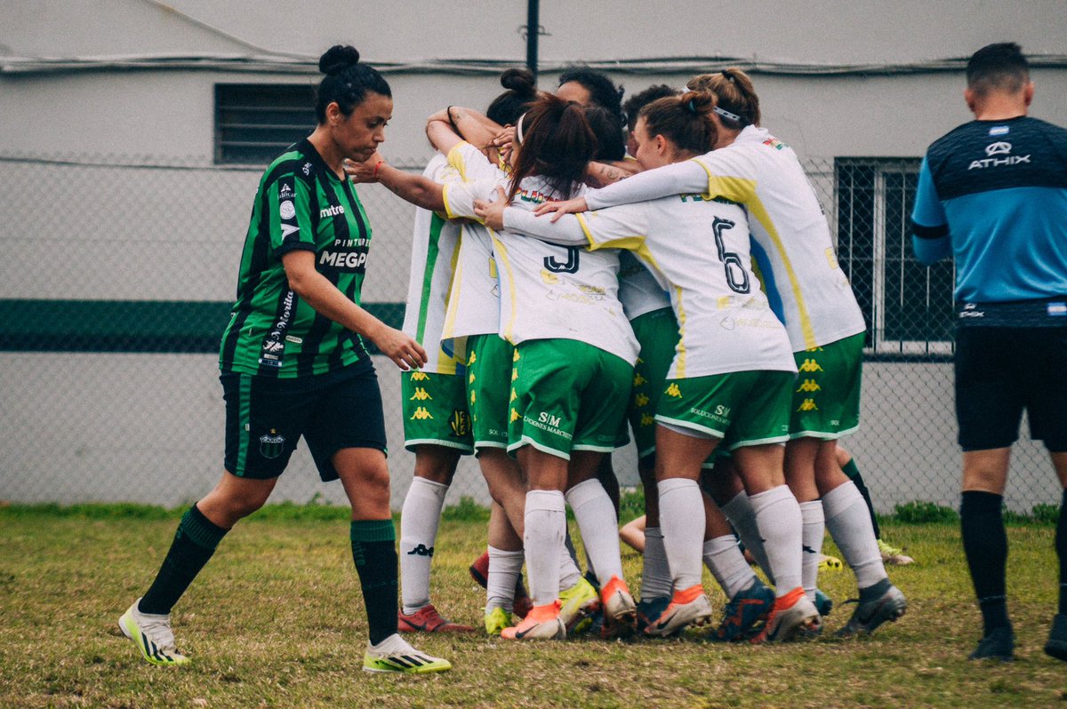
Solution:
<svg viewBox="0 0 1067 709">
<path fill-rule="evenodd" d="M 910 256 L 919 160 L 807 167 L 867 320 L 861 429 L 844 444 L 879 511 L 955 506 L 953 272 Z M 217 349 L 259 176 L 203 160 L 0 156 L 0 500 L 176 505 L 217 482 Z M 413 208 L 378 186 L 360 194 L 373 226 L 364 303 L 399 326 Z M 414 456 L 402 448 L 400 377 L 375 361 L 399 506 Z M 1025 432 L 1006 502 L 1029 512 L 1058 499 L 1058 484 Z M 615 464 L 623 485 L 637 484 L 632 447 Z M 449 495 L 488 501 L 472 460 Z M 304 446 L 272 499 L 345 502 L 340 485 L 319 482 Z"/>
</svg>

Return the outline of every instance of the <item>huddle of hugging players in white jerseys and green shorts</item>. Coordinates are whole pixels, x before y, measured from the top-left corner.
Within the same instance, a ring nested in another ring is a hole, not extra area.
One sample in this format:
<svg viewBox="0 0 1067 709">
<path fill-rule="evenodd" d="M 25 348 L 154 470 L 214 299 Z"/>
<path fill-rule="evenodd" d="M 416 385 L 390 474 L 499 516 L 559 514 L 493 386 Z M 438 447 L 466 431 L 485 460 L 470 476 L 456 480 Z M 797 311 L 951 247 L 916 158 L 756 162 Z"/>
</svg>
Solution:
<svg viewBox="0 0 1067 709">
<path fill-rule="evenodd" d="M 895 621 L 907 602 L 837 460 L 859 423 L 863 317 L 796 155 L 760 127 L 748 77 L 652 86 L 625 111 L 603 75 L 564 74 L 556 95 L 531 79 L 507 72 L 484 115 L 430 116 L 437 154 L 421 177 L 377 155 L 349 167 L 420 208 L 404 332 L 427 362 L 402 375 L 416 472 L 400 629 L 468 630 L 430 603 L 419 551 L 472 452 L 493 498 L 490 634 L 562 639 L 593 613 L 607 638 L 678 634 L 712 617 L 702 562 L 730 599 L 717 638 L 818 634 L 825 529 L 860 589 L 839 633 Z M 605 466 L 627 421 L 647 501 L 639 602 Z M 587 576 L 569 551 L 568 504 Z M 516 607 L 524 562 L 529 600 Z"/>
</svg>

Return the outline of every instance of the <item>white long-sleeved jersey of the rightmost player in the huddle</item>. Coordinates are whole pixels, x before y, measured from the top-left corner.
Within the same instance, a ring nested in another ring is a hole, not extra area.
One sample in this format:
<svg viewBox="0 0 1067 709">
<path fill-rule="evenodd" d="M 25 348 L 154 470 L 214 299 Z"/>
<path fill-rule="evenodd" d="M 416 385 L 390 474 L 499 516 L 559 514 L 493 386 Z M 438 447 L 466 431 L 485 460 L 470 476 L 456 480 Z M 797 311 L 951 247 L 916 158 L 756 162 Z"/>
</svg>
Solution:
<svg viewBox="0 0 1067 709">
<path fill-rule="evenodd" d="M 752 255 L 795 352 L 863 332 L 815 191 L 792 148 L 764 128 L 748 126 L 727 147 L 592 190 L 586 203 L 602 209 L 705 190 L 748 210 Z"/>
</svg>

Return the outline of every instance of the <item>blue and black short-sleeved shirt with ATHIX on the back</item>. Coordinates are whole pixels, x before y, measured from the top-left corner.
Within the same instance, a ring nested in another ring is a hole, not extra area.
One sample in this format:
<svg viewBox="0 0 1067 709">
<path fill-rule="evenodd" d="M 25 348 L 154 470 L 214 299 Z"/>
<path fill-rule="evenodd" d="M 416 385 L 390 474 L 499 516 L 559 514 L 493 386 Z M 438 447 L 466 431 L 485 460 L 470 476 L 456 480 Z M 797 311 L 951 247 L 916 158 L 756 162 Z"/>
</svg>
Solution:
<svg viewBox="0 0 1067 709">
<path fill-rule="evenodd" d="M 1020 116 L 938 139 L 919 173 L 915 255 L 956 259 L 956 301 L 1067 295 L 1067 130 Z"/>
</svg>

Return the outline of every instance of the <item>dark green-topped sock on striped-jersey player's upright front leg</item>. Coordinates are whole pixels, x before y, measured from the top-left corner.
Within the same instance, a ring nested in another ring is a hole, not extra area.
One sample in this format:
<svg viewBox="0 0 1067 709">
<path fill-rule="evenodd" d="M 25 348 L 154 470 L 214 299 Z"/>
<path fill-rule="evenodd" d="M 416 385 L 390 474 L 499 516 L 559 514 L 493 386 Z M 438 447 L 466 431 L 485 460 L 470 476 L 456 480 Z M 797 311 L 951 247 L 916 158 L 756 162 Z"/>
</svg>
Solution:
<svg viewBox="0 0 1067 709">
<path fill-rule="evenodd" d="M 377 645 L 397 631 L 396 528 L 392 519 L 353 519 L 350 536 L 370 644 Z"/>
</svg>

